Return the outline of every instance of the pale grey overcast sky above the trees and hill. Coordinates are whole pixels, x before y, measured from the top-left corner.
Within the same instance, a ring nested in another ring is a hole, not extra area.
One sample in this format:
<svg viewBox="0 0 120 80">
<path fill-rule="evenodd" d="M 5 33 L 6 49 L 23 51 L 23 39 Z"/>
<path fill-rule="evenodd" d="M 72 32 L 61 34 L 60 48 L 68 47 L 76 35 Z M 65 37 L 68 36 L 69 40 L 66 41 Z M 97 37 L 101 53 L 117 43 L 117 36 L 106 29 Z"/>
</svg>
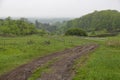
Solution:
<svg viewBox="0 0 120 80">
<path fill-rule="evenodd" d="M 0 17 L 80 17 L 106 9 L 120 11 L 120 0 L 0 0 Z"/>
</svg>

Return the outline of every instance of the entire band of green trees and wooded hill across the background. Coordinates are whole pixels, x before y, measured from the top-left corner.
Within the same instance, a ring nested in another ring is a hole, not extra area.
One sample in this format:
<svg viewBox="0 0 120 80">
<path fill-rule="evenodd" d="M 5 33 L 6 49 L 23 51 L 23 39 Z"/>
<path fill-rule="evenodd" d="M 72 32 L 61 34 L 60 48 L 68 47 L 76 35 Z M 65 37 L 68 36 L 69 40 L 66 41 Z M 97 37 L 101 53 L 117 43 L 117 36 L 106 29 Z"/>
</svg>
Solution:
<svg viewBox="0 0 120 80">
<path fill-rule="evenodd" d="M 69 31 L 71 28 L 72 31 Z M 120 12 L 116 10 L 94 11 L 80 18 L 54 24 L 41 23 L 38 20 L 31 23 L 26 18 L 15 20 L 7 17 L 0 19 L 0 35 L 65 34 L 67 31 L 73 34 L 73 31 L 76 30 L 75 28 L 79 28 L 84 32 L 92 32 L 93 34 L 97 31 L 105 33 L 120 32 Z M 75 32 L 75 34 L 79 34 L 79 31 L 77 30 L 78 33 Z"/>
</svg>

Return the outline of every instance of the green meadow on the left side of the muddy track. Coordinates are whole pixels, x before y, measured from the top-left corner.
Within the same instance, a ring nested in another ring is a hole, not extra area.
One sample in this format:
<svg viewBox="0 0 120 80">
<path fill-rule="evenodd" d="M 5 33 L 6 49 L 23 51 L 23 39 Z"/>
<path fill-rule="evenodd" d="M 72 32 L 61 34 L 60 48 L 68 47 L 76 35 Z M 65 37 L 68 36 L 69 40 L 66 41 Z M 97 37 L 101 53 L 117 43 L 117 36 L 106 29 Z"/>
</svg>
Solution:
<svg viewBox="0 0 120 80">
<path fill-rule="evenodd" d="M 89 42 L 70 36 L 0 37 L 0 75 L 37 57 L 84 43 Z"/>
</svg>

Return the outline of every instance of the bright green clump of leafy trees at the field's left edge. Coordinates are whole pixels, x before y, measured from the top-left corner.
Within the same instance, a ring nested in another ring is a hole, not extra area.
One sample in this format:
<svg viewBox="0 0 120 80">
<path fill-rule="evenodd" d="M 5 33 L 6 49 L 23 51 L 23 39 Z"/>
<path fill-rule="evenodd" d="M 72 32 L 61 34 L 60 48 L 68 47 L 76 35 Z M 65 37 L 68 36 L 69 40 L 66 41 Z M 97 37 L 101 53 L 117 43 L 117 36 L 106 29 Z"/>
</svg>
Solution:
<svg viewBox="0 0 120 80">
<path fill-rule="evenodd" d="M 36 33 L 33 23 L 30 23 L 25 18 L 12 20 L 10 17 L 0 19 L 0 34 L 3 35 L 28 35 Z"/>
</svg>

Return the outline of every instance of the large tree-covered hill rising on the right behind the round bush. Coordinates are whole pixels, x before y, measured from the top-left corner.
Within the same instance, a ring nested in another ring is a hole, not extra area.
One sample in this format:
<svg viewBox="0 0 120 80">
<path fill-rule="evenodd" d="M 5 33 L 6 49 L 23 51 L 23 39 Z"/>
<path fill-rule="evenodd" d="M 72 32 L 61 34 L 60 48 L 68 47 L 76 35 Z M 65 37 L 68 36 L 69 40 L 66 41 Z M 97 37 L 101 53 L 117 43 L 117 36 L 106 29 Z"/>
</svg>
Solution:
<svg viewBox="0 0 120 80">
<path fill-rule="evenodd" d="M 70 20 L 66 23 L 66 26 L 62 27 L 64 31 L 69 28 L 81 28 L 87 32 L 119 32 L 120 12 L 116 10 L 94 11 L 80 18 Z"/>
</svg>

